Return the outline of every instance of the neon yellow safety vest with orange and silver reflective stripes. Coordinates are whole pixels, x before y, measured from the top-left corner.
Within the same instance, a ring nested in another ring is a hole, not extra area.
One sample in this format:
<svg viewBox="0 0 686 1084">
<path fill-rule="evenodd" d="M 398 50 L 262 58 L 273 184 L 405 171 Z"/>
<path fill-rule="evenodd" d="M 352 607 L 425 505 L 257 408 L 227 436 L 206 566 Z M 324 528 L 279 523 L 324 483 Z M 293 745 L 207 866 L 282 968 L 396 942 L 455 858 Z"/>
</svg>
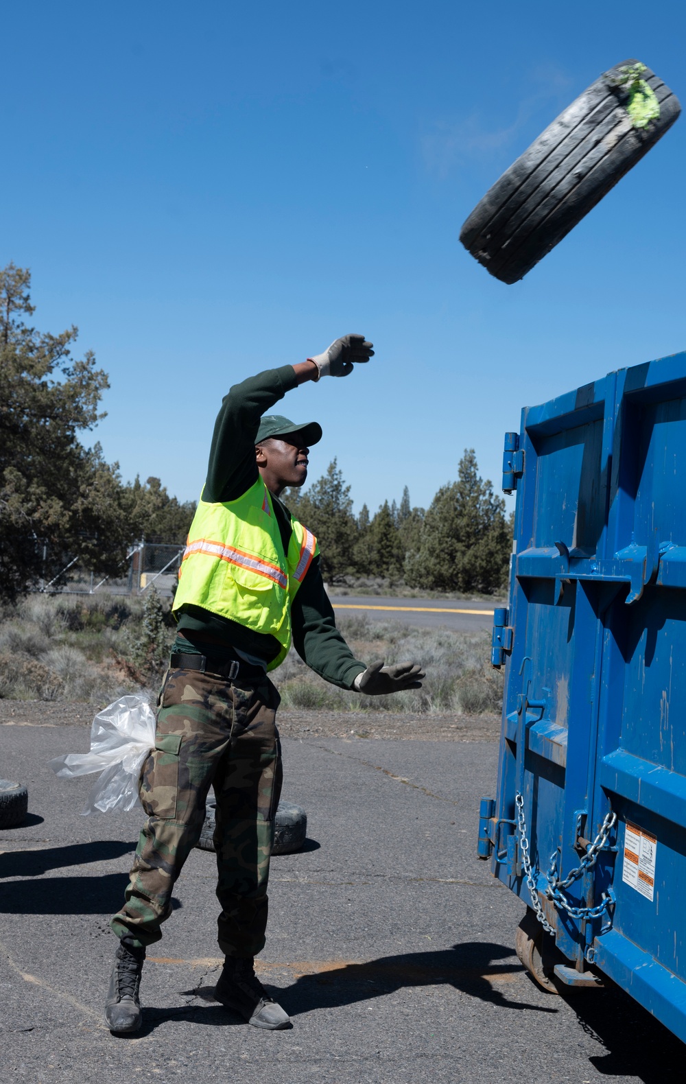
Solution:
<svg viewBox="0 0 686 1084">
<path fill-rule="evenodd" d="M 290 647 L 290 604 L 312 559 L 319 554 L 311 531 L 290 517 L 293 532 L 284 553 L 272 498 L 259 478 L 235 501 L 197 506 L 179 569 L 173 599 L 199 606 L 238 624 L 274 636 L 281 650 L 274 670 Z"/>
</svg>

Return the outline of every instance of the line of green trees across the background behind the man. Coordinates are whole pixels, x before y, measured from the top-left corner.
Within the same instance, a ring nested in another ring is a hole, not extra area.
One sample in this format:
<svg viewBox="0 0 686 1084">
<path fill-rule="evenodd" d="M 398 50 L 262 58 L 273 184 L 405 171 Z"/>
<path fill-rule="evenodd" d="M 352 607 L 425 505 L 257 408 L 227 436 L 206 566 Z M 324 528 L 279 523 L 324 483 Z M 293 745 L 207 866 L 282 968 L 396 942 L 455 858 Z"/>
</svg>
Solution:
<svg viewBox="0 0 686 1084">
<path fill-rule="evenodd" d="M 100 418 L 108 387 L 92 351 L 74 359 L 78 331 L 40 333 L 27 323 L 30 272 L 0 270 L 0 597 L 15 598 L 57 577 L 75 557 L 104 576 L 121 576 L 128 547 L 182 544 L 195 511 L 158 478 L 124 482 L 100 444 L 79 434 Z M 318 537 L 326 580 L 374 577 L 439 591 L 497 590 L 505 581 L 512 529 L 504 502 L 466 450 L 457 480 L 427 509 L 385 501 L 374 515 L 353 513 L 336 460 L 307 490 L 283 499 Z"/>
</svg>

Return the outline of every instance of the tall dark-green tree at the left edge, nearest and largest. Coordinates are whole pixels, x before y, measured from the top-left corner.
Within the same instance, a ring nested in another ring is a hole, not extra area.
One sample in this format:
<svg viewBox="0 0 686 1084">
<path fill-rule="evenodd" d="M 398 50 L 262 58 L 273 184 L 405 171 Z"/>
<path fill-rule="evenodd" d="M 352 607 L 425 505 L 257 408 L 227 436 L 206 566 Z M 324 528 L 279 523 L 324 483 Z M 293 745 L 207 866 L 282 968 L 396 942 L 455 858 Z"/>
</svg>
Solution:
<svg viewBox="0 0 686 1084">
<path fill-rule="evenodd" d="M 77 328 L 59 335 L 26 324 L 35 309 L 30 272 L 0 270 L 0 596 L 52 580 L 73 557 L 115 573 L 134 529 L 121 505 L 117 465 L 78 434 L 103 414 L 105 373 L 70 349 Z"/>
</svg>

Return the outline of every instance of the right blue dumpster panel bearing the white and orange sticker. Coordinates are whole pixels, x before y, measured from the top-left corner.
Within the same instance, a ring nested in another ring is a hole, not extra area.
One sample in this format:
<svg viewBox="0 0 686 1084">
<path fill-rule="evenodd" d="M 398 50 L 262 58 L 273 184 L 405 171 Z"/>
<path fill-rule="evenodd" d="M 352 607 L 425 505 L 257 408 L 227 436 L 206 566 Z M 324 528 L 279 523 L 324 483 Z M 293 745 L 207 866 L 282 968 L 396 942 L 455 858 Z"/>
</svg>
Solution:
<svg viewBox="0 0 686 1084">
<path fill-rule="evenodd" d="M 620 374 L 596 790 L 618 813 L 598 965 L 686 1041 L 686 356 Z M 637 596 L 636 596 L 637 592 Z"/>
</svg>

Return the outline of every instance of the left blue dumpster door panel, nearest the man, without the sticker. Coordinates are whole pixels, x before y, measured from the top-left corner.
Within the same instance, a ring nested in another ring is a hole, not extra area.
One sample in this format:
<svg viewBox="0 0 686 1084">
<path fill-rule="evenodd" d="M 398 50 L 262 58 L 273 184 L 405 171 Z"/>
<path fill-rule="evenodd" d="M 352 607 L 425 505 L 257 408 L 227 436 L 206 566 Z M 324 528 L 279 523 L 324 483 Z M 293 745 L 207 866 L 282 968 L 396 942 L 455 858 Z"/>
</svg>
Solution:
<svg viewBox="0 0 686 1084">
<path fill-rule="evenodd" d="M 552 861 L 559 876 L 579 865 L 594 825 L 596 679 L 609 595 L 591 566 L 600 567 L 607 543 L 614 384 L 610 376 L 522 414 L 493 857 L 496 876 L 530 904 L 515 831 L 521 795 L 539 904 L 558 946 L 579 963 L 585 924 L 542 893 Z M 579 563 L 590 571 L 585 579 L 575 573 Z M 593 905 L 593 876 L 570 886 L 567 896 L 572 906 Z"/>
</svg>

